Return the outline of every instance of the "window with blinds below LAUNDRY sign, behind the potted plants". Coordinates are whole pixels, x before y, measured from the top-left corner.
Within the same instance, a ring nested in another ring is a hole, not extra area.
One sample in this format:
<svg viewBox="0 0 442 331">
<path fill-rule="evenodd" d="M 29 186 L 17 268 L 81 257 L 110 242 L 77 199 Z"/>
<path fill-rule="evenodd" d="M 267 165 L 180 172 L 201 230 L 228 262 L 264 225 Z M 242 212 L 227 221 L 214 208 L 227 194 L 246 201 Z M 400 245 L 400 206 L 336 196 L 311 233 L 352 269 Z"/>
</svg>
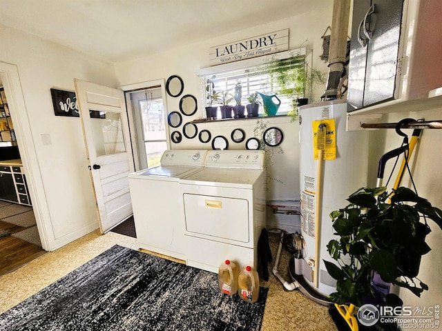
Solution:
<svg viewBox="0 0 442 331">
<path fill-rule="evenodd" d="M 278 114 L 287 114 L 291 109 L 293 99 L 304 97 L 305 94 L 303 84 L 296 84 L 296 79 L 287 81 L 287 77 L 305 77 L 305 53 L 305 48 L 300 48 L 272 54 L 264 59 L 258 57 L 200 70 L 198 75 L 201 80 L 204 107 L 210 106 L 211 101 L 208 84 L 215 92 L 228 91 L 233 97 L 236 83 L 239 81 L 242 86 L 242 105 L 249 103 L 247 98 L 254 92 L 276 94 L 281 101 Z M 278 63 L 277 66 L 275 66 L 276 63 Z M 258 97 L 258 100 L 260 99 Z M 229 104 L 234 106 L 236 102 L 233 100 Z M 212 105 L 220 106 L 220 101 L 213 101 Z M 260 113 L 263 112 L 264 110 L 260 106 Z M 220 117 L 218 116 L 218 118 Z"/>
</svg>

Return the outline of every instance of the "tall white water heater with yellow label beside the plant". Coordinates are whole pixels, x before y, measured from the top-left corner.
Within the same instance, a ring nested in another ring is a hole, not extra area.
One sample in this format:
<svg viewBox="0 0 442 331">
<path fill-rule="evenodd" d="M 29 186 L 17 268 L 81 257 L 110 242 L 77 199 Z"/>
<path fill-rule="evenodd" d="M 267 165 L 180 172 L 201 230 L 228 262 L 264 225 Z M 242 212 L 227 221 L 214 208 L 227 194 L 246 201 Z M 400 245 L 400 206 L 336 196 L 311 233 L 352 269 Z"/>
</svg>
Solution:
<svg viewBox="0 0 442 331">
<path fill-rule="evenodd" d="M 336 280 L 323 260 L 336 239 L 329 214 L 348 204 L 350 194 L 367 185 L 368 135 L 347 132 L 347 102 L 333 100 L 299 108 L 302 258 L 295 273 L 325 296 L 336 292 Z M 323 156 L 322 160 L 318 156 Z"/>
</svg>

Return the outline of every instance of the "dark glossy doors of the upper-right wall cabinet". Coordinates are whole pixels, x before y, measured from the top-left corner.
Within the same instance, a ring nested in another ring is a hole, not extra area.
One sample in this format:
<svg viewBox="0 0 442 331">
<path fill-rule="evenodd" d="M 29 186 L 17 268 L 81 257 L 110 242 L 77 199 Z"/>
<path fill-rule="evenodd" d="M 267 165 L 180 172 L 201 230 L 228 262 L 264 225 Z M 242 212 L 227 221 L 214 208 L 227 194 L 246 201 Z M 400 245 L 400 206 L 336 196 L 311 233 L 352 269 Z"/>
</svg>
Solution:
<svg viewBox="0 0 442 331">
<path fill-rule="evenodd" d="M 354 6 L 348 101 L 354 108 L 394 98 L 403 0 L 362 0 Z"/>
</svg>

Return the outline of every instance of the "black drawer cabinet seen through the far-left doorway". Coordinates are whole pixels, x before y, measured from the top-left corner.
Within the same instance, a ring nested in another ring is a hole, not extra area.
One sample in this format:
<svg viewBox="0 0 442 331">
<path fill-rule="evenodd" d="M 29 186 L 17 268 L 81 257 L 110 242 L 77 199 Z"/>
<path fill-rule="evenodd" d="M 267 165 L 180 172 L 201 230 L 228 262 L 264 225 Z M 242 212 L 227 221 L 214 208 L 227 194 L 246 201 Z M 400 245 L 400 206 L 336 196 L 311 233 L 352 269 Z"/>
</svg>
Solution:
<svg viewBox="0 0 442 331">
<path fill-rule="evenodd" d="M 21 166 L 0 165 L 0 199 L 32 205 Z"/>
</svg>

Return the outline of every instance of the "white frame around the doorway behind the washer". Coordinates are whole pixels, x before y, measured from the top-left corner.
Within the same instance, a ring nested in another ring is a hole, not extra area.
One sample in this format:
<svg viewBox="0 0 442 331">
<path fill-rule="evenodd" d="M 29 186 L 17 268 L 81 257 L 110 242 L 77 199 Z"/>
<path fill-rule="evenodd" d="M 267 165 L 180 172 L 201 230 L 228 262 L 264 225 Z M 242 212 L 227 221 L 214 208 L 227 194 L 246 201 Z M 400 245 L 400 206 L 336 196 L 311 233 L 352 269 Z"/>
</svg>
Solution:
<svg viewBox="0 0 442 331">
<path fill-rule="evenodd" d="M 154 81 L 143 81 L 141 83 L 135 83 L 135 84 L 128 84 L 128 85 L 124 85 L 121 86 L 120 88 L 124 91 L 124 95 L 126 96 L 126 110 L 127 110 L 127 115 L 128 115 L 128 121 L 129 121 L 129 130 L 131 130 L 130 134 L 131 134 L 131 143 L 132 143 L 132 152 L 133 152 L 133 163 L 135 165 L 135 171 L 141 170 L 140 169 L 140 155 L 138 153 L 138 148 L 140 147 L 139 143 L 138 143 L 138 138 L 137 138 L 137 130 L 136 130 L 136 126 L 135 126 L 135 114 L 133 113 L 133 106 L 132 106 L 132 101 L 131 98 L 127 97 L 128 92 L 133 92 L 136 90 L 145 90 L 154 86 L 160 86 L 161 88 L 161 95 L 163 98 L 163 107 L 164 107 L 164 123 L 166 123 L 165 128 L 166 128 L 166 145 L 167 145 L 167 149 L 170 150 L 171 149 L 171 140 L 169 139 L 170 137 L 170 132 L 169 132 L 169 124 L 167 121 L 167 115 L 169 114 L 168 109 L 167 109 L 167 94 L 166 94 L 166 87 L 165 87 L 165 83 L 164 83 L 164 79 L 156 79 Z M 136 151 L 136 152 L 135 152 Z"/>
</svg>

